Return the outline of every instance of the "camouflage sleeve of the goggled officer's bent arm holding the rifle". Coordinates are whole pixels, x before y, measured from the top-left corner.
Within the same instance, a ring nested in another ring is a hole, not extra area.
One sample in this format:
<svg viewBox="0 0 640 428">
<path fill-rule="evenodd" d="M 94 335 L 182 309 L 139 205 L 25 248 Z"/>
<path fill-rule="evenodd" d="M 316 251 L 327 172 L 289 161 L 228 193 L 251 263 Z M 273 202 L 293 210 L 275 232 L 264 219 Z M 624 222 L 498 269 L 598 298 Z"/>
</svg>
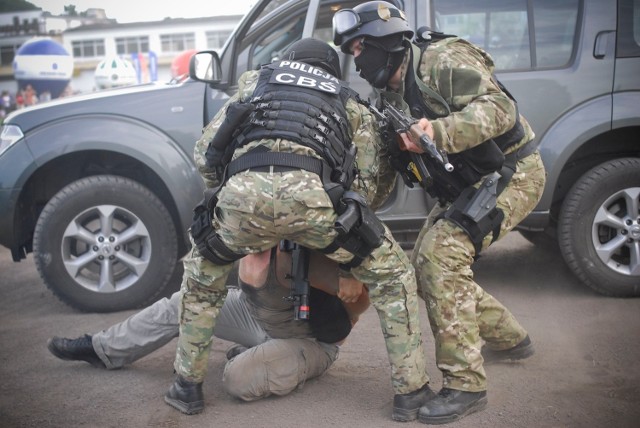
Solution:
<svg viewBox="0 0 640 428">
<path fill-rule="evenodd" d="M 493 68 L 489 54 L 459 38 L 434 43 L 424 51 L 422 80 L 451 108 L 451 114 L 432 121 L 439 148 L 461 152 L 513 127 L 515 104 L 492 78 Z M 428 96 L 425 100 L 434 104 Z"/>
</svg>

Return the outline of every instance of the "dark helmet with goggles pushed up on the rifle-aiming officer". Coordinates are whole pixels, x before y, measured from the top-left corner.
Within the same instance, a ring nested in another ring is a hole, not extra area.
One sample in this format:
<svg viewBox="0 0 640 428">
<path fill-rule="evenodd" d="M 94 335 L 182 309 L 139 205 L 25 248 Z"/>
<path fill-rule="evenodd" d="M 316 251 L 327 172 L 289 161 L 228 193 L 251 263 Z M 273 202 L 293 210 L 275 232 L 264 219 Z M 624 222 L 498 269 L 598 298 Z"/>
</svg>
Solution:
<svg viewBox="0 0 640 428">
<path fill-rule="evenodd" d="M 348 54 L 351 41 L 357 37 L 386 37 L 398 35 L 398 40 L 411 39 L 404 12 L 386 1 L 369 1 L 353 9 L 342 9 L 333 15 L 333 43 Z"/>
</svg>

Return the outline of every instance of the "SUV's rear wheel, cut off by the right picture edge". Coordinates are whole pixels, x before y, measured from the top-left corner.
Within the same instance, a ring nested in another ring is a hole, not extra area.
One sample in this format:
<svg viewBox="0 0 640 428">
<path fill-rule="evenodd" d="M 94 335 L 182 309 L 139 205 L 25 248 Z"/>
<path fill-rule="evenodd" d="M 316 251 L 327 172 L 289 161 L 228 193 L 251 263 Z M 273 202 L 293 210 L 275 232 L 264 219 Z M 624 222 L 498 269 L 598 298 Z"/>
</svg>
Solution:
<svg viewBox="0 0 640 428">
<path fill-rule="evenodd" d="M 640 296 L 640 159 L 611 160 L 580 177 L 564 200 L 558 241 L 586 285 Z"/>
</svg>

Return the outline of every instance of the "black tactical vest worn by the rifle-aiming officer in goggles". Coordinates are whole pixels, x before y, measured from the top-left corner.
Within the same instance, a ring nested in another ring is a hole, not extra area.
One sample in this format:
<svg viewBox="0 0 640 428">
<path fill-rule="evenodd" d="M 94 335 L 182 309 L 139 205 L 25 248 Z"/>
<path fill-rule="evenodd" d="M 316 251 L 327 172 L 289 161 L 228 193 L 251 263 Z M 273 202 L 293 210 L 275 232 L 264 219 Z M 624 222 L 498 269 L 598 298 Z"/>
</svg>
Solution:
<svg viewBox="0 0 640 428">
<path fill-rule="evenodd" d="M 432 35 L 432 37 L 434 36 Z M 435 36 L 435 40 L 441 40 L 445 37 L 453 36 Z M 422 81 L 418 81 L 417 68 L 419 66 L 419 59 L 422 58 L 422 54 L 427 47 L 428 43 L 420 43 L 418 44 L 418 49 L 414 48 L 411 51 L 405 78 L 404 101 L 408 104 L 411 114 L 414 117 L 426 117 L 427 119 L 433 120 L 445 117 L 446 114 L 437 114 L 425 102 L 422 96 L 424 91 L 427 91 L 428 95 L 432 98 L 439 99 L 440 103 L 443 104 L 448 111 L 450 111 L 450 108 L 439 94 L 427 88 Z M 418 60 L 416 60 L 416 58 Z M 513 96 L 500 82 L 498 82 L 498 85 L 500 89 L 516 103 Z M 520 142 L 524 134 L 524 127 L 520 123 L 520 115 L 518 114 L 516 103 L 516 122 L 514 126 L 502 135 L 489 139 L 469 150 L 449 154 L 449 162 L 454 166 L 454 170 L 450 173 L 444 172 L 442 174 L 435 171 L 434 175 L 442 176 L 440 177 L 442 179 L 435 177 L 433 192 L 437 197 L 453 202 L 466 187 L 477 183 L 487 174 L 500 171 L 505 162 L 505 151 Z"/>
</svg>

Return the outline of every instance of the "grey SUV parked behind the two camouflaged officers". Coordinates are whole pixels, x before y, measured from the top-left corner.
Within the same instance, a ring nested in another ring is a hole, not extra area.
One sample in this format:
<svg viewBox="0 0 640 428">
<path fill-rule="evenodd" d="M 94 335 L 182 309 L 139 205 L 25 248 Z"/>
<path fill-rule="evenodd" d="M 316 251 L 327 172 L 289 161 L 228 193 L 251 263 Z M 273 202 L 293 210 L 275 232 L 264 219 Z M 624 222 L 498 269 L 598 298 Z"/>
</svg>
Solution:
<svg viewBox="0 0 640 428">
<path fill-rule="evenodd" d="M 558 243 L 567 265 L 608 296 L 640 295 L 640 3 L 634 0 L 394 0 L 415 28 L 457 34 L 492 54 L 547 167 L 519 225 Z M 301 37 L 331 40 L 353 0 L 257 0 L 220 54 L 219 79 L 146 84 L 14 112 L 0 131 L 0 244 L 33 252 L 43 282 L 83 311 L 154 301 L 189 248 L 202 198 L 192 151 L 238 76 Z M 342 55 L 342 54 L 341 54 Z M 344 75 L 369 86 L 348 56 Z M 431 201 L 398 181 L 378 214 L 407 248 Z"/>
</svg>

